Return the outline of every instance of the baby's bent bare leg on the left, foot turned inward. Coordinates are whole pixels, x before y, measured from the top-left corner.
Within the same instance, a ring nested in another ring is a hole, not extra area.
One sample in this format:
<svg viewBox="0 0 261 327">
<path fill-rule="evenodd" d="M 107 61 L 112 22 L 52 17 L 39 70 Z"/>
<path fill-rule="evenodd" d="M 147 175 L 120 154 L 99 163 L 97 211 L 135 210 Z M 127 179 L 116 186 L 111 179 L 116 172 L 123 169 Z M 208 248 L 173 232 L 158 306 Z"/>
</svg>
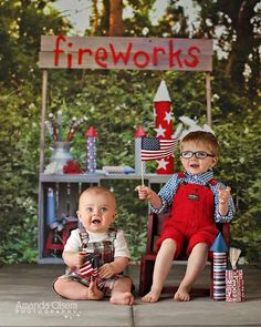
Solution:
<svg viewBox="0 0 261 327">
<path fill-rule="evenodd" d="M 87 287 L 67 278 L 58 278 L 53 288 L 59 295 L 69 299 L 102 299 L 104 297 L 95 282 L 91 282 Z"/>
</svg>

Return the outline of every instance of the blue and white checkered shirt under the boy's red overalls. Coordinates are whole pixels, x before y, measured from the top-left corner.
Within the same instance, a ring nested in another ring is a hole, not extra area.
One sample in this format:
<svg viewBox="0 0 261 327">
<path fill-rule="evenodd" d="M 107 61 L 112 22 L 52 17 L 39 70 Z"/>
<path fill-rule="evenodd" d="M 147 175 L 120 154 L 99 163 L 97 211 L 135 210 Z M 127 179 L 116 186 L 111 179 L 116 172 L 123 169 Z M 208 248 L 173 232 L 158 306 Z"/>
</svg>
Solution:
<svg viewBox="0 0 261 327">
<path fill-rule="evenodd" d="M 155 208 L 150 205 L 152 212 L 154 213 L 167 213 L 170 212 L 173 200 L 175 194 L 177 193 L 177 188 L 181 182 L 198 184 L 198 185 L 206 185 L 209 181 L 213 178 L 212 170 L 209 170 L 206 173 L 199 175 L 191 175 L 190 173 L 185 173 L 185 177 L 180 177 L 178 174 L 174 174 L 173 177 L 164 185 L 164 187 L 159 191 L 158 195 L 161 198 L 161 207 Z M 219 192 L 218 188 L 226 188 L 226 186 L 218 182 L 216 185 L 210 185 L 211 191 L 213 192 L 215 198 L 215 222 L 216 223 L 227 223 L 230 222 L 234 216 L 234 205 L 233 200 L 230 196 L 229 198 L 229 208 L 226 216 L 220 215 L 219 213 Z"/>
</svg>

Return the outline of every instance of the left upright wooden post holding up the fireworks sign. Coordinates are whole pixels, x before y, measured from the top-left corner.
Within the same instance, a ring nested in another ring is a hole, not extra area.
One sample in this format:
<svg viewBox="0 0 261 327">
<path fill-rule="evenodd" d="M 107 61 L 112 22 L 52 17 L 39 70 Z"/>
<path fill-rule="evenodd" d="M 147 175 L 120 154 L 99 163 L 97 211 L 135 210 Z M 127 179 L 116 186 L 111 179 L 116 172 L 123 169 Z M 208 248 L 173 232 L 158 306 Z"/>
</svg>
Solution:
<svg viewBox="0 0 261 327">
<path fill-rule="evenodd" d="M 42 112 L 41 112 L 41 135 L 40 135 L 40 174 L 44 170 L 44 146 L 45 146 L 45 114 L 46 114 L 46 96 L 48 96 L 48 71 L 43 70 L 42 75 Z"/>
</svg>

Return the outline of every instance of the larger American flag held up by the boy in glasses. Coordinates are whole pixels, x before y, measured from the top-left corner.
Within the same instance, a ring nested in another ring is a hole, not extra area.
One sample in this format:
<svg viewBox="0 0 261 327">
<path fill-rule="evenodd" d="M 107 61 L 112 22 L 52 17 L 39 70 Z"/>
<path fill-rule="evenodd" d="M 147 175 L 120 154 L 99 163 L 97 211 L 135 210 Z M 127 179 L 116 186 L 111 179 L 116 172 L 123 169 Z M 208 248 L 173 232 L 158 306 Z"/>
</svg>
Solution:
<svg viewBox="0 0 261 327">
<path fill-rule="evenodd" d="M 142 161 L 157 160 L 173 155 L 177 149 L 177 139 L 161 140 L 142 137 Z"/>
</svg>

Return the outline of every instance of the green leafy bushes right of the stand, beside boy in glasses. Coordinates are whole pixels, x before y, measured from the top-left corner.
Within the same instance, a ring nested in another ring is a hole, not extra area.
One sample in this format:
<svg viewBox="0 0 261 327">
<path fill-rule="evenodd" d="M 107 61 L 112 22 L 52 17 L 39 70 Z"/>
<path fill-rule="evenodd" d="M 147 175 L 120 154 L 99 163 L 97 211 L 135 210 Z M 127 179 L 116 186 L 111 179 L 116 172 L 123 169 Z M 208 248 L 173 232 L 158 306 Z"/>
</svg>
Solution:
<svg viewBox="0 0 261 327">
<path fill-rule="evenodd" d="M 254 262 L 261 259 L 261 111 L 252 101 L 246 104 L 241 104 L 243 116 L 231 113 L 226 123 L 216 127 L 221 145 L 218 174 L 231 186 L 236 202 L 232 245 Z"/>
</svg>

